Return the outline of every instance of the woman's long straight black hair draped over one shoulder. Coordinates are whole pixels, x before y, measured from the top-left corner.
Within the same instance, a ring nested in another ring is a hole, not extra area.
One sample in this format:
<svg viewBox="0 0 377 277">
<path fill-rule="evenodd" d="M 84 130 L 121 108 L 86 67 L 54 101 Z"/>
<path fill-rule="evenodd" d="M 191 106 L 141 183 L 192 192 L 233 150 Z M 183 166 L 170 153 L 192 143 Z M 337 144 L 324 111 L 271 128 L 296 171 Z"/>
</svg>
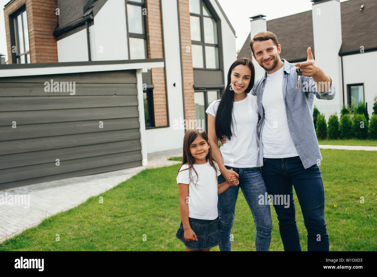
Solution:
<svg viewBox="0 0 377 277">
<path fill-rule="evenodd" d="M 233 127 L 232 113 L 233 113 L 234 92 L 233 90 L 231 90 L 230 77 L 231 77 L 233 68 L 238 66 L 239 64 L 248 66 L 251 70 L 250 83 L 247 89 L 245 90 L 245 93 L 249 93 L 250 90 L 254 86 L 255 69 L 253 66 L 253 62 L 248 58 L 239 58 L 229 68 L 228 84 L 222 93 L 221 101 L 220 101 L 220 104 L 216 113 L 215 130 L 216 130 L 216 136 L 219 139 L 221 139 L 222 136 L 224 136 L 227 139 L 230 139 L 232 136 L 230 127 L 231 126 Z"/>
</svg>

